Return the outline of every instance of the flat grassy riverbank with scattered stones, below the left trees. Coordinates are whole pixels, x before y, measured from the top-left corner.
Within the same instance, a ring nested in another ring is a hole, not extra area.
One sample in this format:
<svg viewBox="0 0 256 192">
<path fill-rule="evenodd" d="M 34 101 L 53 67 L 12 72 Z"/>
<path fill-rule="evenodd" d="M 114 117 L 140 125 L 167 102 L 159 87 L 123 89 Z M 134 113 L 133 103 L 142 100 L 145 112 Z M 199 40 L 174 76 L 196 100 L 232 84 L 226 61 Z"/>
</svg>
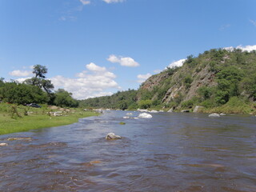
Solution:
<svg viewBox="0 0 256 192">
<path fill-rule="evenodd" d="M 54 112 L 59 111 L 55 114 Z M 98 115 L 80 109 L 33 108 L 0 103 L 0 134 L 11 134 L 22 131 L 42 129 L 51 126 L 64 126 L 78 122 L 79 118 Z"/>
</svg>

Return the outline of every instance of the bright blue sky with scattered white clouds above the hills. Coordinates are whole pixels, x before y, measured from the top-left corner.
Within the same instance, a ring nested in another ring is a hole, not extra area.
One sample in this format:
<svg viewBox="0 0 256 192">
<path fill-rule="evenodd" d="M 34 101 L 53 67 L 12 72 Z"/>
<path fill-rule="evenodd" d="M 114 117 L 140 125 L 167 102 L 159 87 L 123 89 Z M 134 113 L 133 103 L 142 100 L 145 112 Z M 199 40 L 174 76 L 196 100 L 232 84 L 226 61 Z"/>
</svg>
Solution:
<svg viewBox="0 0 256 192">
<path fill-rule="evenodd" d="M 48 68 L 90 98 L 138 89 L 188 55 L 256 46 L 254 0 L 0 0 L 0 77 Z"/>
</svg>

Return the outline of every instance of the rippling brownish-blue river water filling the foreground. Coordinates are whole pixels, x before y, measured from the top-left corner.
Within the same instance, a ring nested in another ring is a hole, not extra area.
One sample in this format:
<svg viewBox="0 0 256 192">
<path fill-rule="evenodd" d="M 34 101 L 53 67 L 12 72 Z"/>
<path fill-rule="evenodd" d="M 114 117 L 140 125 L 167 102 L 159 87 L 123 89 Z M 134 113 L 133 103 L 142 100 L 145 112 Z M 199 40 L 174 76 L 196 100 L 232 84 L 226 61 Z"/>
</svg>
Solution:
<svg viewBox="0 0 256 192">
<path fill-rule="evenodd" d="M 256 191 L 256 117 L 126 113 L 0 136 L 0 191 Z"/>
</svg>

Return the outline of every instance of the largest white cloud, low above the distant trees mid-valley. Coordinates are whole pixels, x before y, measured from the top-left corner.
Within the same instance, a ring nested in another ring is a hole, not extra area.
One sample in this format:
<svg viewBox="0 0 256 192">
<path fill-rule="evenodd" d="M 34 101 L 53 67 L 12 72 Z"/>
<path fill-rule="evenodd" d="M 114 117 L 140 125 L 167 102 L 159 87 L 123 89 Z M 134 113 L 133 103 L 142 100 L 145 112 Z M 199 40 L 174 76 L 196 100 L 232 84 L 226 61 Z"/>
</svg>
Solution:
<svg viewBox="0 0 256 192">
<path fill-rule="evenodd" d="M 86 65 L 86 70 L 76 74 L 77 78 L 65 78 L 61 75 L 50 78 L 56 89 L 62 88 L 73 93 L 77 99 L 94 98 L 112 94 L 110 89 L 120 89 L 114 81 L 116 75 L 106 70 L 106 67 L 97 66 L 93 62 Z"/>
</svg>

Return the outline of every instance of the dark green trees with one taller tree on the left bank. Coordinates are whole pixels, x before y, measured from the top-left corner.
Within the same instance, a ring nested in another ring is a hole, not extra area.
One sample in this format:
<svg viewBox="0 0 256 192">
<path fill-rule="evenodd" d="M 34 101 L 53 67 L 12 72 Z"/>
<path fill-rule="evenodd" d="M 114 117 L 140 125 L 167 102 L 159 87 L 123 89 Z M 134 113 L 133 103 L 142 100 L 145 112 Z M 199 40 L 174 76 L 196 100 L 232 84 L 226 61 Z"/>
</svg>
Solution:
<svg viewBox="0 0 256 192">
<path fill-rule="evenodd" d="M 25 82 L 5 82 L 0 78 L 0 101 L 25 105 L 40 103 L 55 106 L 77 107 L 78 101 L 72 98 L 72 94 L 66 90 L 53 91 L 54 85 L 46 79 L 46 66 L 34 66 L 33 78 Z"/>
</svg>

